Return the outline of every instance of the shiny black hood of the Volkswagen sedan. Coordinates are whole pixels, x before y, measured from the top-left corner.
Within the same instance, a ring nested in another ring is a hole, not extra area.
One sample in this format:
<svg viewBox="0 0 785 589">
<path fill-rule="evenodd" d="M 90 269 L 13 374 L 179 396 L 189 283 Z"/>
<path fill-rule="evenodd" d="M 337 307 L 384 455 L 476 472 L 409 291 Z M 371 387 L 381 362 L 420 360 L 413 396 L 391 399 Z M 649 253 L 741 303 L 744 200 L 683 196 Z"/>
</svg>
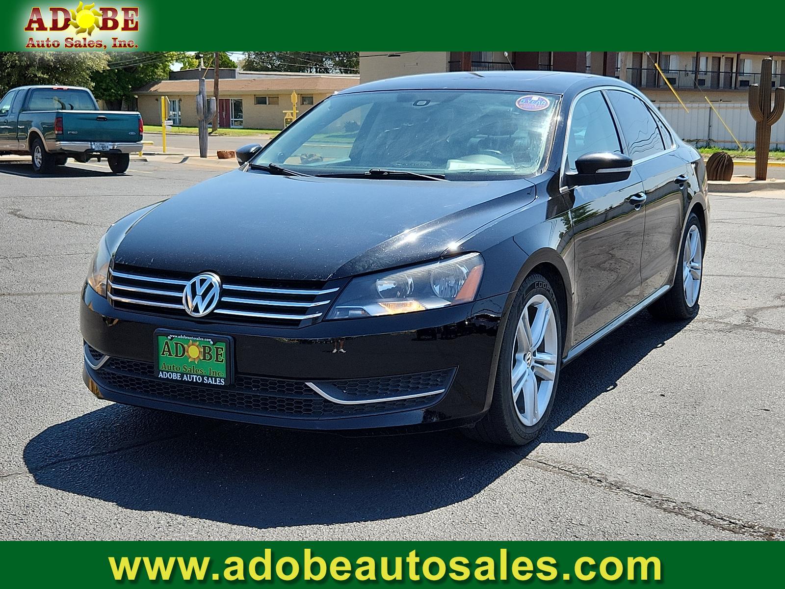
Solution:
<svg viewBox="0 0 785 589">
<path fill-rule="evenodd" d="M 115 262 L 328 280 L 438 258 L 534 196 L 524 179 L 371 180 L 235 170 L 150 210 L 126 233 Z"/>
</svg>

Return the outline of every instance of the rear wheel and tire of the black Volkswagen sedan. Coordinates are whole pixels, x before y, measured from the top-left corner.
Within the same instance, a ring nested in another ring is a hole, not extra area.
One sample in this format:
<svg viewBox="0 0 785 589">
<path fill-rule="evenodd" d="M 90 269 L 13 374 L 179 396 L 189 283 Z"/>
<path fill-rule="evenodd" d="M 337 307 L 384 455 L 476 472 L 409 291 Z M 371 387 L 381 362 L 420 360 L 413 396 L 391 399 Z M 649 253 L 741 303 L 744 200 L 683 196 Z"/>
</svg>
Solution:
<svg viewBox="0 0 785 589">
<path fill-rule="evenodd" d="M 700 309 L 700 287 L 703 283 L 703 227 L 695 213 L 687 220 L 681 237 L 681 252 L 674 285 L 648 311 L 657 319 L 682 321 L 692 319 Z M 685 286 L 686 285 L 686 286 Z"/>
</svg>

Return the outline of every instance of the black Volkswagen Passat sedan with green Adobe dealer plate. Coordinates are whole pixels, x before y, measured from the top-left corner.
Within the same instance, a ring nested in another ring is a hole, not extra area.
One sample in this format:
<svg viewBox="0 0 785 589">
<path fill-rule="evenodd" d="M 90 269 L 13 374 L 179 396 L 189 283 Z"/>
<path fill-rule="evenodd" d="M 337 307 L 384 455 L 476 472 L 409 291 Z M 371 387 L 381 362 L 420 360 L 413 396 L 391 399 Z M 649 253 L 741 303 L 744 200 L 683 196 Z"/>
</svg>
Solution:
<svg viewBox="0 0 785 589">
<path fill-rule="evenodd" d="M 237 155 L 100 241 L 81 310 L 97 397 L 524 444 L 563 364 L 642 309 L 698 312 L 703 162 L 624 82 L 372 82 Z"/>
</svg>

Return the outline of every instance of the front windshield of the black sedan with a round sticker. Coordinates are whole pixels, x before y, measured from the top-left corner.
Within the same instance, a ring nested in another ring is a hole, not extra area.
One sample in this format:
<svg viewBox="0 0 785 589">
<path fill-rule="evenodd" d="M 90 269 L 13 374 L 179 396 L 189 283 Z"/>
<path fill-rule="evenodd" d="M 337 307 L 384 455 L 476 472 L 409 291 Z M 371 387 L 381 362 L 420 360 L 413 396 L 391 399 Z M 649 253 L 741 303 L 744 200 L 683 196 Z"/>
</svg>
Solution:
<svg viewBox="0 0 785 589">
<path fill-rule="evenodd" d="M 253 163 L 317 176 L 502 180 L 545 166 L 558 97 L 490 90 L 337 94 Z"/>
</svg>

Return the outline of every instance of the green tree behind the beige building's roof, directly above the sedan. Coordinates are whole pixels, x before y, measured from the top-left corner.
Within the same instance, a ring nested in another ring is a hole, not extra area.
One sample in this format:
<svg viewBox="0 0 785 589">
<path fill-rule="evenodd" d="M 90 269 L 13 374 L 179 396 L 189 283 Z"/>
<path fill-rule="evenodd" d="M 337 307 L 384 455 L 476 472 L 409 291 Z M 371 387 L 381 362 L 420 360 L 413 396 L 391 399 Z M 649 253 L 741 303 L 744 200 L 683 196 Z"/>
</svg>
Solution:
<svg viewBox="0 0 785 589">
<path fill-rule="evenodd" d="M 243 69 L 248 71 L 305 71 L 316 74 L 356 74 L 357 51 L 248 51 Z"/>
</svg>

